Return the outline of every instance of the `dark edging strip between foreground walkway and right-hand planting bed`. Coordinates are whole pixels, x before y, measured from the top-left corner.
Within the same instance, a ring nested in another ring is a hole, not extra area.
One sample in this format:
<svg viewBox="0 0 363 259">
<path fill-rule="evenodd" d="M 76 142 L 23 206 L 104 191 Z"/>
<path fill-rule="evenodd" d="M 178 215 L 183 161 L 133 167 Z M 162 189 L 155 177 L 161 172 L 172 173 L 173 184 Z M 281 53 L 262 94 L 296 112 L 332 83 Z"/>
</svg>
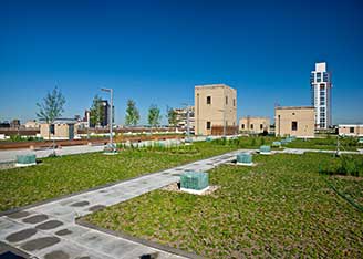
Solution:
<svg viewBox="0 0 363 259">
<path fill-rule="evenodd" d="M 180 250 L 180 249 L 177 249 L 177 248 L 174 248 L 174 247 L 169 247 L 169 246 L 165 246 L 165 245 L 162 245 L 162 244 L 158 244 L 158 242 L 149 241 L 147 239 L 134 237 L 134 236 L 131 236 L 131 235 L 125 234 L 123 231 L 114 231 L 114 230 L 111 230 L 111 229 L 102 228 L 102 227 L 98 227 L 96 225 L 93 225 L 93 224 L 84 220 L 83 218 L 75 219 L 75 224 L 77 224 L 82 227 L 85 227 L 85 228 L 90 228 L 90 229 L 93 229 L 93 230 L 96 230 L 96 231 L 100 231 L 100 232 L 108 234 L 108 235 L 112 235 L 114 237 L 124 238 L 126 240 L 129 240 L 129 241 L 133 241 L 133 242 L 136 242 L 136 244 L 142 244 L 142 245 L 145 245 L 147 247 L 152 247 L 152 248 L 155 248 L 157 250 L 166 251 L 168 253 L 173 253 L 173 255 L 176 255 L 176 256 L 182 256 L 182 257 L 186 257 L 186 258 L 190 258 L 190 259 L 203 259 L 204 258 L 204 257 L 198 256 L 198 255 L 193 253 L 193 252 L 184 251 L 184 250 Z"/>
</svg>

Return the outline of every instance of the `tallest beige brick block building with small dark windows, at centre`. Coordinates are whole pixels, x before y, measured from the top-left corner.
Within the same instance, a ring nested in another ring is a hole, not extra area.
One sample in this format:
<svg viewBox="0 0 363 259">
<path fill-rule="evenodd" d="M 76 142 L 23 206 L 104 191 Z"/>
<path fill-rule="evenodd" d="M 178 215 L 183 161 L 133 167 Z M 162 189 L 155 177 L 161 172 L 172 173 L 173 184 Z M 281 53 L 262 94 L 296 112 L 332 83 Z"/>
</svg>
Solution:
<svg viewBox="0 0 363 259">
<path fill-rule="evenodd" d="M 216 134 L 214 128 L 220 130 L 224 124 L 226 134 L 238 130 L 237 91 L 225 84 L 195 86 L 195 134 Z"/>
</svg>

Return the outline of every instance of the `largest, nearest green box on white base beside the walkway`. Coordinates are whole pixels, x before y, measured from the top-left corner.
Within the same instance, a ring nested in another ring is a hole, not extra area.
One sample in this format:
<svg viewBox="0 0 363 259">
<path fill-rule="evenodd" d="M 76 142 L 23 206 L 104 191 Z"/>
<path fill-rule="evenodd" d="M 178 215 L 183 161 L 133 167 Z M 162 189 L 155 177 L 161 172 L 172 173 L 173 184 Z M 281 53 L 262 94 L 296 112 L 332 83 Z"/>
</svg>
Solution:
<svg viewBox="0 0 363 259">
<path fill-rule="evenodd" d="M 203 190 L 209 186 L 209 175 L 204 172 L 185 172 L 180 176 L 180 188 Z"/>
</svg>

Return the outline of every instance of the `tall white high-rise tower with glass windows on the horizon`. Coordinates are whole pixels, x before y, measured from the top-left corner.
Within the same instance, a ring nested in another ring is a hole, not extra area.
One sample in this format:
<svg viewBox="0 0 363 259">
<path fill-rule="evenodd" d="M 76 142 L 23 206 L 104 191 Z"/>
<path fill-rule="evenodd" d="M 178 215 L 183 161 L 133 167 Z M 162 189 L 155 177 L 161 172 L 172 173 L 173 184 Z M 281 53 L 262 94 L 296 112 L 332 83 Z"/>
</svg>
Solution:
<svg viewBox="0 0 363 259">
<path fill-rule="evenodd" d="M 332 125 L 331 113 L 331 74 L 326 72 L 326 63 L 315 63 L 311 71 L 311 104 L 315 107 L 315 127 L 329 128 Z"/>
</svg>

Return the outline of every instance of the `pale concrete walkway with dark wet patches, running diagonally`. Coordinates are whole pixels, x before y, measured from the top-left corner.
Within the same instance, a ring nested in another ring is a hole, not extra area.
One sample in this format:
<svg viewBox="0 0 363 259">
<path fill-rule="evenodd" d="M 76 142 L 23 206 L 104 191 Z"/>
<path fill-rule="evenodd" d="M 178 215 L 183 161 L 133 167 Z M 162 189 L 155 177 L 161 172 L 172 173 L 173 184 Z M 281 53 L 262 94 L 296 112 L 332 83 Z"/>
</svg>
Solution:
<svg viewBox="0 0 363 259">
<path fill-rule="evenodd" d="M 75 224 L 75 218 L 158 189 L 184 170 L 209 170 L 238 152 L 211 157 L 0 217 L 0 241 L 37 258 L 180 258 Z M 152 257 L 151 257 L 152 258 Z"/>
</svg>

